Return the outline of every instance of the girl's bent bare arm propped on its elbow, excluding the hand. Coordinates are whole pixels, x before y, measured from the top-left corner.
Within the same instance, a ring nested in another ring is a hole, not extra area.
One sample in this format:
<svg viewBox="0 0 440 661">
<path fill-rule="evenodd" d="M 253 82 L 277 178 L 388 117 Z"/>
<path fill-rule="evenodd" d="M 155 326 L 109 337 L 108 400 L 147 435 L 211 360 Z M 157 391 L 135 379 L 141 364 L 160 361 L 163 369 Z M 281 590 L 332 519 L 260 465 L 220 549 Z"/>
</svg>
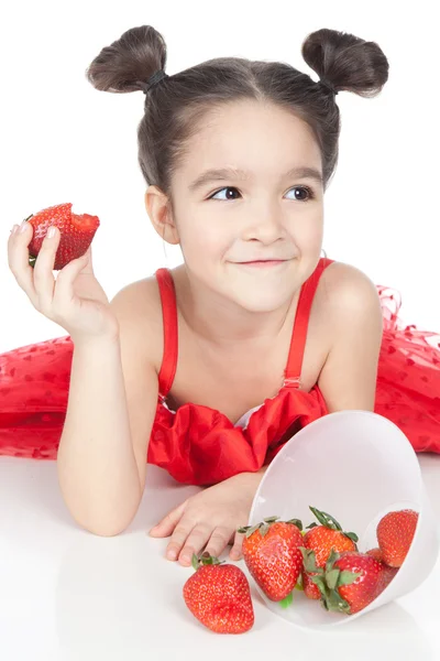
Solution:
<svg viewBox="0 0 440 661">
<path fill-rule="evenodd" d="M 156 371 L 140 354 L 145 325 L 134 318 L 133 291 L 129 285 L 111 302 L 117 339 L 75 345 L 58 447 L 58 479 L 72 516 L 106 537 L 122 532 L 139 509 L 157 401 Z"/>
</svg>

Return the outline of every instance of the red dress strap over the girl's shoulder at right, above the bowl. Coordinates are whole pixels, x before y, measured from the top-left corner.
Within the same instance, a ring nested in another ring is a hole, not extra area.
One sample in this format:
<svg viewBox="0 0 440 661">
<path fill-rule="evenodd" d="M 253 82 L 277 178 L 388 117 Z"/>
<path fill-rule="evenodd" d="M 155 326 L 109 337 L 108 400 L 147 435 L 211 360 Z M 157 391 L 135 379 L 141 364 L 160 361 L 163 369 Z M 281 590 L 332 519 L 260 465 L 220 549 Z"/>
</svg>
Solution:
<svg viewBox="0 0 440 661">
<path fill-rule="evenodd" d="M 314 302 L 319 279 L 324 269 L 334 260 L 328 257 L 321 257 L 317 268 L 308 280 L 302 284 L 299 293 L 295 324 L 292 333 L 290 349 L 287 360 L 287 367 L 284 372 L 284 386 L 299 388 L 302 368 L 304 350 L 306 348 L 307 328 L 309 325 L 310 308 Z"/>
</svg>

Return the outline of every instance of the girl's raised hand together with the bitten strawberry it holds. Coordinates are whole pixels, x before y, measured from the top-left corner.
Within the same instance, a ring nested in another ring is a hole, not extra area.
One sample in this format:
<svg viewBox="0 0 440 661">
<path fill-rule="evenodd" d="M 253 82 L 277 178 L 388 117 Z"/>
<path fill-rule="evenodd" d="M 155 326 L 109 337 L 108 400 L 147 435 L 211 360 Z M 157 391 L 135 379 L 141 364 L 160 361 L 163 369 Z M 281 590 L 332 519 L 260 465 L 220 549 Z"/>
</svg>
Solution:
<svg viewBox="0 0 440 661">
<path fill-rule="evenodd" d="M 20 231 L 14 225 L 8 264 L 35 310 L 63 326 L 75 344 L 114 342 L 119 321 L 95 277 L 91 258 L 99 219 L 70 209 L 72 204 L 48 207 L 23 220 Z"/>
</svg>

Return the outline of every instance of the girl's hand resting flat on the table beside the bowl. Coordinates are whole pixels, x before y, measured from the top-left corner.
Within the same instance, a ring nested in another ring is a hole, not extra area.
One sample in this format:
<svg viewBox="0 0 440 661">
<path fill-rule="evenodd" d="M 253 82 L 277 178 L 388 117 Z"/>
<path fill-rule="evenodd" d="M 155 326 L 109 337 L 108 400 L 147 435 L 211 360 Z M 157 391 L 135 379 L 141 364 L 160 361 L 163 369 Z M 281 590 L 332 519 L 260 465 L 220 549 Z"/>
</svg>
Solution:
<svg viewBox="0 0 440 661">
<path fill-rule="evenodd" d="M 190 566 L 193 553 L 198 554 L 205 546 L 218 557 L 228 544 L 233 544 L 230 557 L 240 560 L 244 534 L 237 529 L 248 524 L 261 478 L 261 473 L 241 473 L 199 491 L 168 512 L 150 534 L 172 535 L 166 556 L 178 559 L 184 566 Z"/>
</svg>

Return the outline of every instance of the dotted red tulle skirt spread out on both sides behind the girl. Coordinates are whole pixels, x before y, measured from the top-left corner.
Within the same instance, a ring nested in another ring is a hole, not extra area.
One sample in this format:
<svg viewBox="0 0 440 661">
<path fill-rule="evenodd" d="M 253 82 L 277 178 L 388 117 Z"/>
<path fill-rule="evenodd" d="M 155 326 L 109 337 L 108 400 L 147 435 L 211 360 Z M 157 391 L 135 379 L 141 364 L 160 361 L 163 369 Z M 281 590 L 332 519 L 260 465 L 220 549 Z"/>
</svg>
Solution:
<svg viewBox="0 0 440 661">
<path fill-rule="evenodd" d="M 416 452 L 440 453 L 440 334 L 405 326 L 399 292 L 376 286 L 384 334 L 374 411 Z M 73 350 L 67 335 L 0 354 L 0 455 L 56 458 Z"/>
</svg>

